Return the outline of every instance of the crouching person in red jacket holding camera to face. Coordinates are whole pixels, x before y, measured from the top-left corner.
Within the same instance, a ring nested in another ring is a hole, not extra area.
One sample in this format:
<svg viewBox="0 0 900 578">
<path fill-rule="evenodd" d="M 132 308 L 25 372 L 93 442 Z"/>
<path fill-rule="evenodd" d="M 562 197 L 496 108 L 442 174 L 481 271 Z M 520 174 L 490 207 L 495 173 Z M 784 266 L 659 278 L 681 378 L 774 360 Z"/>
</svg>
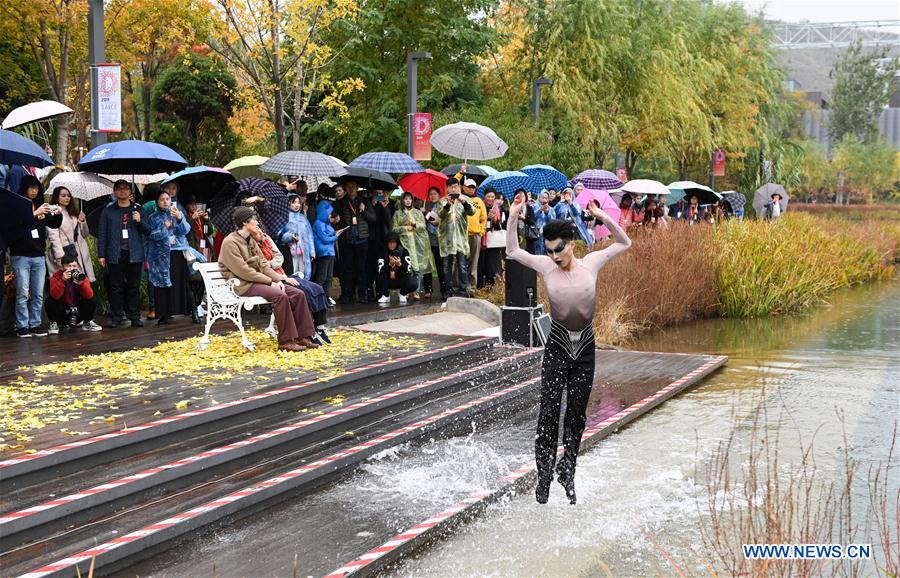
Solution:
<svg viewBox="0 0 900 578">
<path fill-rule="evenodd" d="M 47 300 L 49 333 L 55 335 L 60 329 L 78 325 L 81 325 L 82 331 L 101 331 L 103 328 L 94 323 L 97 303 L 87 274 L 71 253 L 64 254 L 60 263 L 62 268 L 50 277 L 50 298 Z"/>
</svg>

